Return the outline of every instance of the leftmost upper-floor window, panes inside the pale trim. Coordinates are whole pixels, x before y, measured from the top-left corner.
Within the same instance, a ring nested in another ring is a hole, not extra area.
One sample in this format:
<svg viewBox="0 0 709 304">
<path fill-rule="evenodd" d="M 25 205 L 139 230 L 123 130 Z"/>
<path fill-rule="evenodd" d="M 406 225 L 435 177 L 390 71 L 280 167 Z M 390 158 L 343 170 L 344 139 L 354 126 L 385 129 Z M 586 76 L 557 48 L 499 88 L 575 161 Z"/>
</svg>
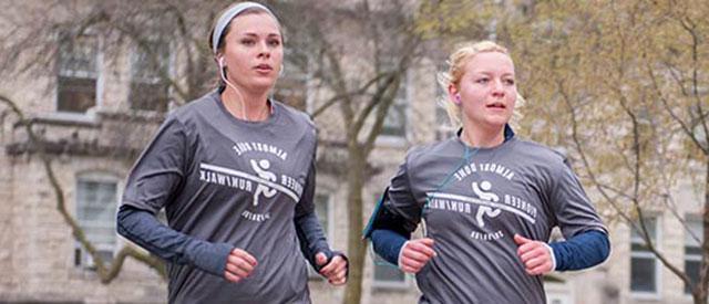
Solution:
<svg viewBox="0 0 709 304">
<path fill-rule="evenodd" d="M 59 43 L 56 111 L 85 113 L 96 105 L 97 40 L 62 35 Z"/>
</svg>

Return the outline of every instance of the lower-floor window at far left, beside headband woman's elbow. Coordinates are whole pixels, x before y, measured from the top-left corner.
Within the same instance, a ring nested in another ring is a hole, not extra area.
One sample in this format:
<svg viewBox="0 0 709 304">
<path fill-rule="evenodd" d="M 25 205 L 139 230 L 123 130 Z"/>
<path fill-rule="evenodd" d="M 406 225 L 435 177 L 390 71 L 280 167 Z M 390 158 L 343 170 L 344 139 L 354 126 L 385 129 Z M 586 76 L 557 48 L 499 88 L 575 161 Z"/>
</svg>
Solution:
<svg viewBox="0 0 709 304">
<path fill-rule="evenodd" d="M 105 263 L 113 260 L 117 241 L 117 187 L 116 178 L 103 175 L 85 175 L 76 181 L 76 221 Z M 79 242 L 74 265 L 89 269 L 94 266 L 91 255 Z"/>
</svg>

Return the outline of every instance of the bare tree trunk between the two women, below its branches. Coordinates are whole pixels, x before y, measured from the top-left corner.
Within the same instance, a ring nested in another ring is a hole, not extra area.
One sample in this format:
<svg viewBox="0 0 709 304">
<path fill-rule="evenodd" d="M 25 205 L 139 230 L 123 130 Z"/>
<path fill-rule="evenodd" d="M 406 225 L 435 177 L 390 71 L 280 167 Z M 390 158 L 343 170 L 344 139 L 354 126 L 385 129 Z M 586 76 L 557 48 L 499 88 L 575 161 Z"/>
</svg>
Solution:
<svg viewBox="0 0 709 304">
<path fill-rule="evenodd" d="M 362 296 L 362 276 L 364 272 L 364 255 L 367 247 L 362 241 L 362 190 L 364 185 L 366 159 L 357 140 L 348 145 L 348 179 L 347 209 L 349 231 L 347 252 L 349 259 L 349 279 L 345 290 L 346 304 L 359 304 Z"/>
</svg>

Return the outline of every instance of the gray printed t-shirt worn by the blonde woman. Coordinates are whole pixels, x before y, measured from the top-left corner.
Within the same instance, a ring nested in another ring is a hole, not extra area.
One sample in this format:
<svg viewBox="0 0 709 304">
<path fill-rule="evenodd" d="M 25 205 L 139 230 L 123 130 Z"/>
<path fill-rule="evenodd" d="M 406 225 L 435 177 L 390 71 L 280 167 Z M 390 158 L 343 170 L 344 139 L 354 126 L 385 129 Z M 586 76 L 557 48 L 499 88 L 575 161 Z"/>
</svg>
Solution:
<svg viewBox="0 0 709 304">
<path fill-rule="evenodd" d="M 511 138 L 470 148 L 458 137 L 412 149 L 387 208 L 421 218 L 438 256 L 417 274 L 420 303 L 546 303 L 542 276 L 525 272 L 513 237 L 544 241 L 606 231 L 565 158 Z"/>
</svg>

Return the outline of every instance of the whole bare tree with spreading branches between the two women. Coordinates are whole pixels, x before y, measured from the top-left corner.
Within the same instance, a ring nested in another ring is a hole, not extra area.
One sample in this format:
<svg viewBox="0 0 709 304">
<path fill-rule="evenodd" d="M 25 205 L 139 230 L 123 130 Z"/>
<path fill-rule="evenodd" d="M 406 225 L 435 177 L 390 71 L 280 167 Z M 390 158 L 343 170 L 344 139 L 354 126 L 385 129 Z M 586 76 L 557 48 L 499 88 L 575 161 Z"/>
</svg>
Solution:
<svg viewBox="0 0 709 304">
<path fill-rule="evenodd" d="M 312 116 L 338 117 L 337 136 L 321 138 L 323 154 L 338 164 L 330 170 L 347 185 L 349 282 L 343 303 L 360 303 L 367 244 L 361 232 L 366 216 L 362 193 L 374 174 L 369 159 L 407 70 L 423 54 L 417 30 L 418 4 L 410 1 L 298 1 L 284 3 L 287 45 L 299 53 L 302 70 L 315 90 L 329 97 L 318 101 Z M 403 117 L 401 117 L 403 118 Z M 345 150 L 339 153 L 337 150 Z M 327 157 L 326 157 L 327 158 Z M 343 164 L 342 164 L 343 163 Z M 367 214 L 369 216 L 369 214 Z"/>
</svg>

